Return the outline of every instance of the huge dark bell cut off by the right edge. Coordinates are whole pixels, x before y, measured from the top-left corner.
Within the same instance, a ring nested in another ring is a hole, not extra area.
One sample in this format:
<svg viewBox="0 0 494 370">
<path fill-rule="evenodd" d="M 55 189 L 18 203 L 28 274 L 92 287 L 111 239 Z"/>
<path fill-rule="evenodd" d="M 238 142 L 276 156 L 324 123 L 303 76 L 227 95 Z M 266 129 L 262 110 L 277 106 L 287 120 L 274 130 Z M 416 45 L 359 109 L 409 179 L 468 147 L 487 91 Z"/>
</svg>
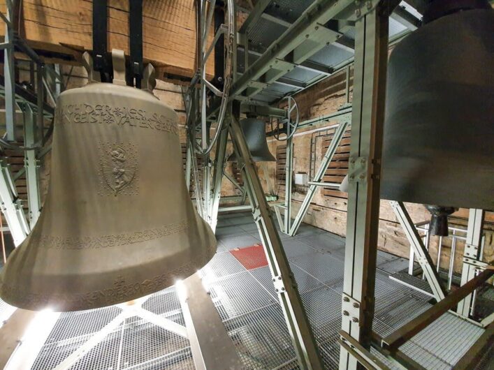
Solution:
<svg viewBox="0 0 494 370">
<path fill-rule="evenodd" d="M 458 3 L 391 52 L 382 198 L 494 209 L 494 10 Z"/>
</svg>

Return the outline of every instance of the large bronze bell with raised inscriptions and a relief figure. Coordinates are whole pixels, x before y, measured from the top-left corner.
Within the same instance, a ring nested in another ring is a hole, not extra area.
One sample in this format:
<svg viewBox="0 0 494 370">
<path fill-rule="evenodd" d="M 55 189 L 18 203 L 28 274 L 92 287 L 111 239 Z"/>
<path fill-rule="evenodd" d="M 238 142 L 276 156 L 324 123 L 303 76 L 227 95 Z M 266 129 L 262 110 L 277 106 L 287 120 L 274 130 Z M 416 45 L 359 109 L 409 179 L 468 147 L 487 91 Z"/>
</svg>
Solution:
<svg viewBox="0 0 494 370">
<path fill-rule="evenodd" d="M 0 277 L 9 304 L 118 304 L 173 285 L 215 254 L 185 187 L 177 114 L 113 82 L 59 97 L 43 212 Z"/>
</svg>

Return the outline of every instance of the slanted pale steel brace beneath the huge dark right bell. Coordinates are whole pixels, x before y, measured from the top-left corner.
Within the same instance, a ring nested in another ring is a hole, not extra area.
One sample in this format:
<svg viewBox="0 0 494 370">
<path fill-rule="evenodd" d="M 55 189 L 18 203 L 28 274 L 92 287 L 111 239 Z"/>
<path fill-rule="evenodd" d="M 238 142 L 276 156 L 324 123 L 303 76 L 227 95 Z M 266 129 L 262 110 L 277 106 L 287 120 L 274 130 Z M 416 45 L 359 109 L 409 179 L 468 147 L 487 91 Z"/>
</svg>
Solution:
<svg viewBox="0 0 494 370">
<path fill-rule="evenodd" d="M 422 267 L 423 273 L 426 276 L 429 283 L 430 290 L 433 292 L 434 298 L 437 302 L 446 297 L 446 290 L 439 281 L 439 274 L 434 268 L 434 262 L 430 258 L 429 252 L 426 246 L 423 245 L 419 232 L 416 230 L 415 225 L 410 218 L 405 205 L 402 202 L 390 201 L 391 208 L 395 212 L 395 216 L 398 219 L 405 235 L 412 246 L 414 255 L 417 256 L 417 260 Z"/>
</svg>

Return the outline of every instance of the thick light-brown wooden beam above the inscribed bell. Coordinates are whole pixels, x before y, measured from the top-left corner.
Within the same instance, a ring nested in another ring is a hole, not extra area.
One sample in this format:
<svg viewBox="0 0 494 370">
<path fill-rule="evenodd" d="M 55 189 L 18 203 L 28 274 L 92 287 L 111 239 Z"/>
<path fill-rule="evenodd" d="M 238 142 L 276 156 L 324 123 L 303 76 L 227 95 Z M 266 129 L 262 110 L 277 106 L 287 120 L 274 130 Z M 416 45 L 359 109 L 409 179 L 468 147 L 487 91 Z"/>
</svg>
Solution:
<svg viewBox="0 0 494 370">
<path fill-rule="evenodd" d="M 0 0 L 6 12 L 6 0 Z M 20 36 L 38 50 L 79 57 L 92 50 L 92 1 L 23 0 Z M 0 36 L 5 27 L 0 27 Z M 129 54 L 129 1 L 108 1 L 108 51 Z M 210 34 L 212 40 L 212 34 Z M 165 74 L 191 77 L 196 64 L 196 10 L 194 0 L 143 0 L 143 54 L 163 78 Z M 214 57 L 208 59 L 209 77 Z"/>
</svg>

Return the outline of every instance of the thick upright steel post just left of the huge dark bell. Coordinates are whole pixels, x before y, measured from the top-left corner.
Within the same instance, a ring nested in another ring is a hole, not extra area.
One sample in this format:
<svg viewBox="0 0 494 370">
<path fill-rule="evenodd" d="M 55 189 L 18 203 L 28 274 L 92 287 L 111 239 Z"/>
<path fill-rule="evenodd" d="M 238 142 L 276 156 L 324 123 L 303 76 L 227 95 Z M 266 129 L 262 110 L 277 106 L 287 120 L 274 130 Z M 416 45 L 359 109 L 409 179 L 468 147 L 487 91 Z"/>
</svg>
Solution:
<svg viewBox="0 0 494 370">
<path fill-rule="evenodd" d="M 388 57 L 388 13 L 383 11 L 385 3 L 359 1 L 361 8 L 355 12 L 354 99 L 342 330 L 364 348 L 370 348 L 375 306 L 379 185 Z M 356 368 L 356 358 L 341 348 L 340 369 Z"/>
</svg>

